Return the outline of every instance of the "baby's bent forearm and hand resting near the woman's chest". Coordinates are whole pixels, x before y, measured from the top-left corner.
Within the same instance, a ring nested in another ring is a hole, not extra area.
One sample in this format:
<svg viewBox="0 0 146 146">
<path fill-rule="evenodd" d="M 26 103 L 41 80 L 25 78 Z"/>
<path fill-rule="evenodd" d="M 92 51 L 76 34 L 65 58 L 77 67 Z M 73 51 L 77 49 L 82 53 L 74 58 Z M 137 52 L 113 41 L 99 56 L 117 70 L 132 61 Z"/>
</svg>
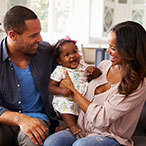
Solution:
<svg viewBox="0 0 146 146">
<path fill-rule="evenodd" d="M 95 66 L 88 66 L 85 73 L 87 74 L 89 81 L 99 77 L 102 74 L 102 72 Z"/>
</svg>

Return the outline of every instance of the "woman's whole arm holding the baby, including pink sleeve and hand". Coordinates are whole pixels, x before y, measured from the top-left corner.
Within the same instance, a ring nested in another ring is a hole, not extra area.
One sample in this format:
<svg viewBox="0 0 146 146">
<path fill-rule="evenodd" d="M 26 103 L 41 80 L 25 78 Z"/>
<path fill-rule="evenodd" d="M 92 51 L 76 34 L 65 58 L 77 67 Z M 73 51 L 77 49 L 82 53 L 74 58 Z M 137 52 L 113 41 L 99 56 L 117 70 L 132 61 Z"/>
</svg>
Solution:
<svg viewBox="0 0 146 146">
<path fill-rule="evenodd" d="M 67 86 L 72 90 L 75 102 L 84 112 L 86 112 L 86 120 L 91 122 L 94 121 L 97 127 L 108 126 L 117 119 L 126 116 L 135 108 L 140 109 L 146 97 L 146 84 L 143 84 L 143 86 L 140 85 L 134 93 L 130 94 L 126 98 L 125 95 L 117 92 L 116 85 L 110 89 L 111 91 L 108 93 L 108 100 L 105 100 L 101 105 L 98 104 L 96 100 L 94 102 L 89 102 L 80 93 L 78 93 L 67 73 L 66 78 L 61 83 L 61 86 L 62 85 Z M 139 115 L 140 111 L 137 111 L 137 113 L 137 115 Z"/>
</svg>

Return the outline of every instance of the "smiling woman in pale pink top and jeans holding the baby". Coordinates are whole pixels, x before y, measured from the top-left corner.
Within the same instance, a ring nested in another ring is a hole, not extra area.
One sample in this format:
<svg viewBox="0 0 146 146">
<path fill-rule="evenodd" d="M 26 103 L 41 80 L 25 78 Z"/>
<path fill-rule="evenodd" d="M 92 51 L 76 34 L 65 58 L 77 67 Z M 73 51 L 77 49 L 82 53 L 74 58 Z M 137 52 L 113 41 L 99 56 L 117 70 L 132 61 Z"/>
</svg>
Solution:
<svg viewBox="0 0 146 146">
<path fill-rule="evenodd" d="M 82 109 L 72 135 L 63 130 L 49 136 L 44 146 L 133 146 L 131 136 L 146 98 L 146 32 L 132 21 L 114 26 L 108 35 L 110 60 L 99 64 L 102 75 L 91 81 L 85 98 L 68 74 L 61 86 L 70 88 Z"/>
</svg>

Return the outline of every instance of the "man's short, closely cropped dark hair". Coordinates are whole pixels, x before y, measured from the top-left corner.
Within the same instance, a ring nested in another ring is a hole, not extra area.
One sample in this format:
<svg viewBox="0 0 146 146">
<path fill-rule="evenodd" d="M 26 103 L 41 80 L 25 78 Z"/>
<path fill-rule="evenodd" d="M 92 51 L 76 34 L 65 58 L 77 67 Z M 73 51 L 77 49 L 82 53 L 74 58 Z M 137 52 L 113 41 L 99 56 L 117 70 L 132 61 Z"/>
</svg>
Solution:
<svg viewBox="0 0 146 146">
<path fill-rule="evenodd" d="M 4 29 L 8 31 L 13 30 L 18 34 L 22 34 L 26 29 L 25 21 L 37 19 L 37 15 L 24 6 L 14 6 L 7 11 L 4 16 Z"/>
</svg>

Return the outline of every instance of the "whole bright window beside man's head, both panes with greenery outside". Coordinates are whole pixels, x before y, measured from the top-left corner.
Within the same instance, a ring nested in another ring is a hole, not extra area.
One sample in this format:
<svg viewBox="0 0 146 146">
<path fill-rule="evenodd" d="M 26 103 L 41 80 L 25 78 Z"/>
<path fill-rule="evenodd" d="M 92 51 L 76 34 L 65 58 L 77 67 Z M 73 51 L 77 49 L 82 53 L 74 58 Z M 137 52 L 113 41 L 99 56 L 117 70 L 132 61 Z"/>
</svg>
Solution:
<svg viewBox="0 0 146 146">
<path fill-rule="evenodd" d="M 65 36 L 70 23 L 72 0 L 31 0 L 30 7 L 42 25 L 43 40 L 54 42 Z"/>
</svg>

